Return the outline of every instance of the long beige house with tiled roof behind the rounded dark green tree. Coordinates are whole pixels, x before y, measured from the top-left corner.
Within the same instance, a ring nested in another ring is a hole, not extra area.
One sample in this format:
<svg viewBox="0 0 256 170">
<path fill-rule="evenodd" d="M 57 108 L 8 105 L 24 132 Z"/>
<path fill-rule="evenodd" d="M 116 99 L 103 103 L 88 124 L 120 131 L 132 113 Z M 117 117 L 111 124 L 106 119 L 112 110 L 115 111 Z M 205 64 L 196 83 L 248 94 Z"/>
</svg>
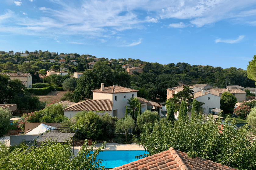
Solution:
<svg viewBox="0 0 256 170">
<path fill-rule="evenodd" d="M 237 101 L 245 101 L 245 94 L 246 92 L 244 92 L 243 90 L 239 90 L 239 89 L 210 89 L 209 90 L 211 94 L 217 95 L 219 97 L 222 96 L 222 93 L 229 91 L 231 94 L 233 94 Z"/>
</svg>

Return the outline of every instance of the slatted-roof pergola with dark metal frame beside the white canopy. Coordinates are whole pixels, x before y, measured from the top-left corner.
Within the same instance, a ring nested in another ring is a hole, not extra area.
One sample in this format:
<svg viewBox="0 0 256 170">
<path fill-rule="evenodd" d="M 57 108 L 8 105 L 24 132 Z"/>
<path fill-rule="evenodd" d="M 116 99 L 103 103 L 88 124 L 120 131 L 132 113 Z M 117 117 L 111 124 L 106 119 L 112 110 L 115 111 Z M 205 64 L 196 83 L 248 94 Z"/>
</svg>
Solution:
<svg viewBox="0 0 256 170">
<path fill-rule="evenodd" d="M 74 151 L 74 135 L 78 131 L 78 129 L 71 129 L 68 125 L 57 125 L 51 124 L 47 127 L 48 130 L 37 136 L 35 139 L 30 141 L 28 146 L 40 146 L 37 144 L 38 142 L 44 142 L 47 139 L 52 139 L 57 142 L 65 142 L 72 138 L 73 141 L 73 151 Z M 34 142 L 36 141 L 36 144 Z"/>
</svg>

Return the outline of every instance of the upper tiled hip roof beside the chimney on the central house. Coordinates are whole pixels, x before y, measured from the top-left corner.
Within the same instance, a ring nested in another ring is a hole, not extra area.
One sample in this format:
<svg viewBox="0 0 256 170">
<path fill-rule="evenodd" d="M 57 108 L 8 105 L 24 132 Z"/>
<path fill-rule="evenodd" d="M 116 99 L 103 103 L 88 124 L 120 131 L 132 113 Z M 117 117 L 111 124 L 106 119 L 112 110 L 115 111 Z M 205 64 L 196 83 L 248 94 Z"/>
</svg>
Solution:
<svg viewBox="0 0 256 170">
<path fill-rule="evenodd" d="M 122 86 L 109 86 L 109 87 L 105 87 L 103 91 L 101 91 L 101 89 L 96 89 L 96 90 L 91 90 L 92 92 L 98 92 L 98 93 L 110 93 L 110 94 L 114 94 L 114 93 L 128 93 L 128 92 L 137 92 L 139 90 L 134 90 L 134 89 L 130 89 L 127 87 L 122 87 Z"/>
</svg>

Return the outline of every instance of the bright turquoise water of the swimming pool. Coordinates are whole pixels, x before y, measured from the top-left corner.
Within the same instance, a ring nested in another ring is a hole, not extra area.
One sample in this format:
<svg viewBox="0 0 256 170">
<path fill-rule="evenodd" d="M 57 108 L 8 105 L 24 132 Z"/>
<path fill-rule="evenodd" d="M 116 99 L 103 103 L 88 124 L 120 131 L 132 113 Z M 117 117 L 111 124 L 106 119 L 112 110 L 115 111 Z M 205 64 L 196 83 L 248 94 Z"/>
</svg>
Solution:
<svg viewBox="0 0 256 170">
<path fill-rule="evenodd" d="M 105 168 L 114 168 L 136 161 L 135 156 L 143 155 L 148 152 L 143 150 L 136 151 L 102 151 L 97 159 L 102 159 L 101 166 Z"/>
</svg>

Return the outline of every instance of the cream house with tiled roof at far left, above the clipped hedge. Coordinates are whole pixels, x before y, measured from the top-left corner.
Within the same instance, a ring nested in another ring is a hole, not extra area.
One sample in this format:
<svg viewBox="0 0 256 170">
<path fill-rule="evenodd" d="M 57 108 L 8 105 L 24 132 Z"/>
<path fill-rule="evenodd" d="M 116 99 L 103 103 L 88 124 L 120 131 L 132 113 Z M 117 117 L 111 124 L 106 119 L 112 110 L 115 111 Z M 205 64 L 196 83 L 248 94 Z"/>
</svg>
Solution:
<svg viewBox="0 0 256 170">
<path fill-rule="evenodd" d="M 32 88 L 32 76 L 30 73 L 0 73 L 2 75 L 6 74 L 11 80 L 18 79 L 27 88 Z"/>
</svg>

